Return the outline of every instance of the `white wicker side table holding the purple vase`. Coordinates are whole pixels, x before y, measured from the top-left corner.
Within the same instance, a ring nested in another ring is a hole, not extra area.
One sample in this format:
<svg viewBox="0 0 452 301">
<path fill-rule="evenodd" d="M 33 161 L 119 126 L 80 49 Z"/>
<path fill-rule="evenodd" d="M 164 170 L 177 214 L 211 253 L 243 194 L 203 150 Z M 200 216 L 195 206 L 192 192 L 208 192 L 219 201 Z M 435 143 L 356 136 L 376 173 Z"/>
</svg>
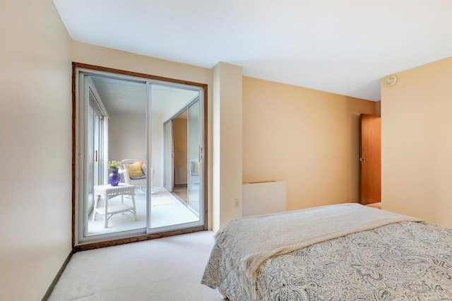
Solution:
<svg viewBox="0 0 452 301">
<path fill-rule="evenodd" d="M 121 196 L 121 203 L 117 205 L 108 206 L 108 200 L 114 196 Z M 124 203 L 124 196 L 131 196 L 133 206 Z M 104 228 L 108 228 L 108 220 L 114 214 L 131 212 L 136 220 L 135 207 L 135 185 L 119 183 L 118 186 L 97 185 L 94 187 L 94 211 L 93 220 L 96 220 L 96 213 L 102 214 L 104 217 Z M 97 208 L 97 202 L 104 199 L 104 206 Z"/>
</svg>

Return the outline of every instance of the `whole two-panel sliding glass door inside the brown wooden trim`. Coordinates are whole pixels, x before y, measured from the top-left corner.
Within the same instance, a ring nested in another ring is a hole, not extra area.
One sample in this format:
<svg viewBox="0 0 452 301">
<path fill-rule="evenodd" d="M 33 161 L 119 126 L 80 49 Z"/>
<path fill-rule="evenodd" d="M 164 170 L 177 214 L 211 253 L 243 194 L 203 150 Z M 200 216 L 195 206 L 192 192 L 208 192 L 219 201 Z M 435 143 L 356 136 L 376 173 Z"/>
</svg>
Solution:
<svg viewBox="0 0 452 301">
<path fill-rule="evenodd" d="M 95 71 L 78 81 L 76 244 L 203 225 L 203 90 Z"/>
</svg>

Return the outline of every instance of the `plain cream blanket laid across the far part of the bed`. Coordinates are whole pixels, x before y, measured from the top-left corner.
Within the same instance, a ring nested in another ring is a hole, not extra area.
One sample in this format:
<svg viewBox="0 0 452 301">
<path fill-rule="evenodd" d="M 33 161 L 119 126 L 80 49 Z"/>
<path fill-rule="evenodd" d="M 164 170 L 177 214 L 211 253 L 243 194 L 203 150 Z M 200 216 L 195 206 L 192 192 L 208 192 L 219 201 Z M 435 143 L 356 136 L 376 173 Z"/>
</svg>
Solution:
<svg viewBox="0 0 452 301">
<path fill-rule="evenodd" d="M 271 256 L 400 221 L 420 220 L 344 203 L 230 220 L 215 235 L 215 244 L 221 249 L 227 268 L 256 299 L 256 273 Z"/>
</svg>

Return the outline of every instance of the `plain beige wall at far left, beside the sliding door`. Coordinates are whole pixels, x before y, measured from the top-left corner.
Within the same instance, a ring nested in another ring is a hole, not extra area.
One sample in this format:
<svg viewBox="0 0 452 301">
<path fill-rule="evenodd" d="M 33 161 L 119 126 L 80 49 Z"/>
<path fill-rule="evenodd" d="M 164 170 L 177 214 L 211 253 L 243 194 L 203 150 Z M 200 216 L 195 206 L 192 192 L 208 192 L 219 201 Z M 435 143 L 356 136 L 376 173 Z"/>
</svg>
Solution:
<svg viewBox="0 0 452 301">
<path fill-rule="evenodd" d="M 70 39 L 52 0 L 0 19 L 0 300 L 41 300 L 71 252 Z"/>
</svg>

